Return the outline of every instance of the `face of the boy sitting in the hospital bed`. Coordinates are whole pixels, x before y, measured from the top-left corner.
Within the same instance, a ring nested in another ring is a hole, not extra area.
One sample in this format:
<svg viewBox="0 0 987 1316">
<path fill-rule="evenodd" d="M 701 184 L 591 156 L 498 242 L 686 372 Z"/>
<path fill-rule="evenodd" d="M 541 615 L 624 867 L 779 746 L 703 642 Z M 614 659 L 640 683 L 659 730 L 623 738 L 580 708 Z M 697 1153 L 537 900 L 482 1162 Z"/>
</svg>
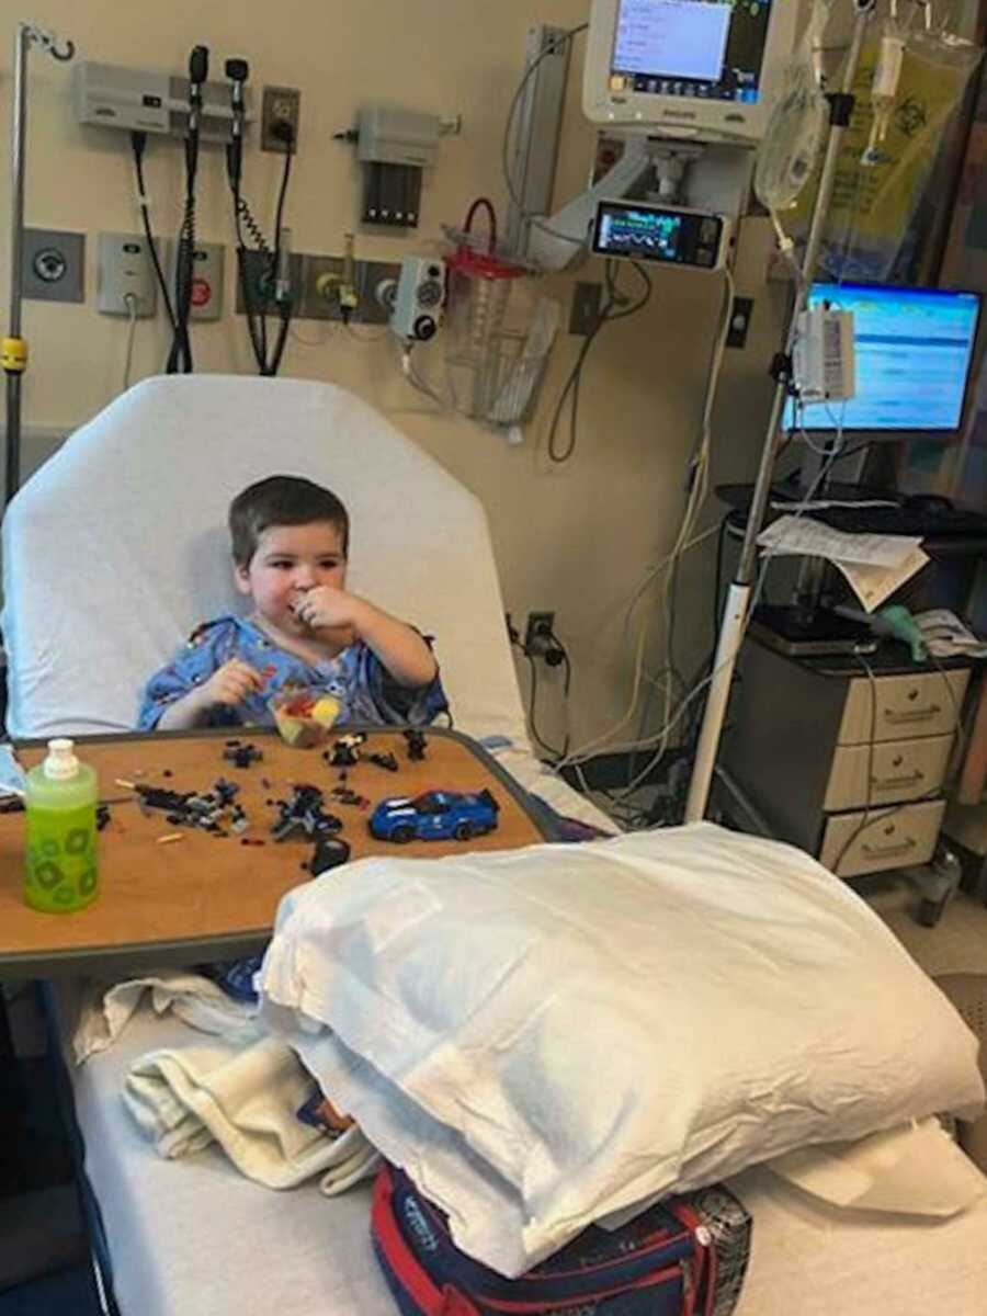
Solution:
<svg viewBox="0 0 987 1316">
<path fill-rule="evenodd" d="M 272 626 L 291 636 L 308 634 L 292 603 L 316 586 L 345 587 L 342 534 L 330 521 L 271 525 L 261 534 L 249 566 L 234 569 L 234 578 L 240 592 L 250 595 Z"/>
</svg>

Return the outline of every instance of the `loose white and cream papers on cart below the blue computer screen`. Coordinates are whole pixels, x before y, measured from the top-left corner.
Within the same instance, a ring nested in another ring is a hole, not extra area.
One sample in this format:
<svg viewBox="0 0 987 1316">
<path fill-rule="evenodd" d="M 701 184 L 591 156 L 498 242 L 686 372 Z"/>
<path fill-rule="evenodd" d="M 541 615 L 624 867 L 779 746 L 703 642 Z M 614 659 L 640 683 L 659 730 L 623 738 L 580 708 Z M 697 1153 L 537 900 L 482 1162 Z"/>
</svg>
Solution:
<svg viewBox="0 0 987 1316">
<path fill-rule="evenodd" d="M 782 516 L 758 536 L 774 555 L 825 558 L 849 582 L 867 612 L 900 588 L 929 561 L 909 534 L 848 534 L 811 516 Z"/>
</svg>

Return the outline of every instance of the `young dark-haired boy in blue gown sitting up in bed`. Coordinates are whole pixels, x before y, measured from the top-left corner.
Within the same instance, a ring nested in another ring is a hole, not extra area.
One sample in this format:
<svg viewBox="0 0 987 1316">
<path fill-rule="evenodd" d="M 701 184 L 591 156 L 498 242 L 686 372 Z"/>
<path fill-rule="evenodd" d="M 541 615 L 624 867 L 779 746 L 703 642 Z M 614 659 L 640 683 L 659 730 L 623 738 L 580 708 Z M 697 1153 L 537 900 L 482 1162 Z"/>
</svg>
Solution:
<svg viewBox="0 0 987 1316">
<path fill-rule="evenodd" d="M 349 515 L 311 480 L 272 475 L 233 499 L 233 575 L 246 620 L 207 621 L 147 683 L 139 730 L 263 726 L 286 686 L 341 701 L 341 722 L 424 725 L 447 712 L 422 637 L 346 590 Z"/>
</svg>

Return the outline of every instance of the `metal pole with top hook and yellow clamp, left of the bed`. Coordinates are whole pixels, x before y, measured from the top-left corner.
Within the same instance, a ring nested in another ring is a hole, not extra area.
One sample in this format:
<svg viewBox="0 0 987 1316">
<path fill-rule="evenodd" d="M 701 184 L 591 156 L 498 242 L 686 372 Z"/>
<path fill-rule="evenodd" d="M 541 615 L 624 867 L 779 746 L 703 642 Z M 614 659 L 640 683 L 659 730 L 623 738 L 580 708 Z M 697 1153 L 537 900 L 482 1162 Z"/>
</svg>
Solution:
<svg viewBox="0 0 987 1316">
<path fill-rule="evenodd" d="M 24 174 L 28 133 L 28 51 L 36 43 L 54 59 L 75 54 L 71 41 L 30 22 L 18 22 L 13 46 L 13 96 L 11 120 L 11 321 L 0 340 L 0 366 L 7 375 L 7 497 L 17 492 L 21 474 L 21 379 L 28 368 L 28 343 L 21 337 L 24 300 Z"/>
</svg>

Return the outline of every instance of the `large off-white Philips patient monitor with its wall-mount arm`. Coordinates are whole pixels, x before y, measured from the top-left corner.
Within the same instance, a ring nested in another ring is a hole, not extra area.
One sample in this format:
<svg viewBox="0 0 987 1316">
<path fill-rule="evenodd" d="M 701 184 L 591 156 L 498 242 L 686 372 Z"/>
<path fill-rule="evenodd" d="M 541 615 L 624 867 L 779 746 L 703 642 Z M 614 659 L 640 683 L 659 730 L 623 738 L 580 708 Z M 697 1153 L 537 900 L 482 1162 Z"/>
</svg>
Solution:
<svg viewBox="0 0 987 1316">
<path fill-rule="evenodd" d="M 634 199 L 672 218 L 678 211 L 696 234 L 716 230 L 701 259 L 676 263 L 711 268 L 711 250 L 713 268 L 725 263 L 799 8 L 796 0 L 592 0 L 583 109 L 621 155 L 587 192 L 532 225 L 529 257 L 565 268 L 591 225 L 599 238 L 600 204 Z"/>
</svg>

